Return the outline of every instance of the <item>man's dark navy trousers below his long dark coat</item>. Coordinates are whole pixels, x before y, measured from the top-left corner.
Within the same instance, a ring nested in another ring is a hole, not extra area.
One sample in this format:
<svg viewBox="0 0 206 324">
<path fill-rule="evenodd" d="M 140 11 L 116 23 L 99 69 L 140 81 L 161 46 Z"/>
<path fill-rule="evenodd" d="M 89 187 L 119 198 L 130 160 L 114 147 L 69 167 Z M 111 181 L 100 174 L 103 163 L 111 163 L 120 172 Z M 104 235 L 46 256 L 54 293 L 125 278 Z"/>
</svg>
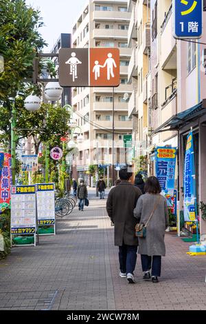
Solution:
<svg viewBox="0 0 206 324">
<path fill-rule="evenodd" d="M 119 246 L 119 268 L 122 273 L 133 274 L 137 261 L 137 246 L 122 244 Z"/>
</svg>

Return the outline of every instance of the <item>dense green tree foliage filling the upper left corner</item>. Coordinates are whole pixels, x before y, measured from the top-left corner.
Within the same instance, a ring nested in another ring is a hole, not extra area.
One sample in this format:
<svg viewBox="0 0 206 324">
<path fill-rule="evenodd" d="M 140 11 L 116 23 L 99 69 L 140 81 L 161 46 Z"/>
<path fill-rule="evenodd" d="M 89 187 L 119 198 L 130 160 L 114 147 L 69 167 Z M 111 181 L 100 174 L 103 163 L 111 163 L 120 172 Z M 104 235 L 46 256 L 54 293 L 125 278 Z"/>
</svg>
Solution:
<svg viewBox="0 0 206 324">
<path fill-rule="evenodd" d="M 0 52 L 5 70 L 0 74 L 0 100 L 16 97 L 23 79 L 32 78 L 36 52 L 46 43 L 38 32 L 43 26 L 40 12 L 26 6 L 25 0 L 1 0 Z"/>
</svg>

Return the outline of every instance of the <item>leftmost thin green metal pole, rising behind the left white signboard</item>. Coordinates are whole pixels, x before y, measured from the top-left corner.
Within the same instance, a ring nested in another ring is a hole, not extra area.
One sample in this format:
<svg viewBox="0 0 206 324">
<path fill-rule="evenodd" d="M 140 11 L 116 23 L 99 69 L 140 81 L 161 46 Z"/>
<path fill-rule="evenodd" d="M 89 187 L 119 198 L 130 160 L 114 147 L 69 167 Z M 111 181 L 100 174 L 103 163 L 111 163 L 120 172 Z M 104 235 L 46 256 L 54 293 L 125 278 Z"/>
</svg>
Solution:
<svg viewBox="0 0 206 324">
<path fill-rule="evenodd" d="M 12 185 L 15 185 L 16 179 L 16 110 L 15 101 L 12 104 L 12 124 L 11 124 L 11 153 L 12 153 Z"/>
</svg>

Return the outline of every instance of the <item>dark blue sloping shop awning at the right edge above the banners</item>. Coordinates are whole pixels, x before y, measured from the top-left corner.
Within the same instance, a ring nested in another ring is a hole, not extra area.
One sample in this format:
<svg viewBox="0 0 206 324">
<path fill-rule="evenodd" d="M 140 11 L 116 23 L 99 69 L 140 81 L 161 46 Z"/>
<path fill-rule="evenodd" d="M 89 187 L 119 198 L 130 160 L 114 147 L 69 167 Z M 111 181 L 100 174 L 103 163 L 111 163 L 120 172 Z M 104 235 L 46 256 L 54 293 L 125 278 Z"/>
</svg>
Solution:
<svg viewBox="0 0 206 324">
<path fill-rule="evenodd" d="M 151 135 L 155 135 L 159 132 L 179 130 L 179 128 L 185 126 L 192 120 L 201 117 L 203 114 L 206 114 L 206 99 L 201 101 L 201 103 L 198 103 L 198 105 L 194 105 L 192 108 L 173 115 L 170 119 L 168 119 L 168 121 L 165 121 L 165 123 L 152 132 Z"/>
</svg>

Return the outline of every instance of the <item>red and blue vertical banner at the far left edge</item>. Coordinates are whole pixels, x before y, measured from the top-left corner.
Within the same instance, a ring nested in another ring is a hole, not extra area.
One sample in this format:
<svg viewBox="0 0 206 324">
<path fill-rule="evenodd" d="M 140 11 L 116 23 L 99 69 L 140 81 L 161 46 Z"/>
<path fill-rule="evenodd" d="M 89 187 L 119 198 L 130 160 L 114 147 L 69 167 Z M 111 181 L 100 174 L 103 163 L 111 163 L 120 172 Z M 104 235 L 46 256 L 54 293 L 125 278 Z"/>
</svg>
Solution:
<svg viewBox="0 0 206 324">
<path fill-rule="evenodd" d="M 11 154 L 0 153 L 0 213 L 10 207 L 12 183 Z"/>
</svg>

